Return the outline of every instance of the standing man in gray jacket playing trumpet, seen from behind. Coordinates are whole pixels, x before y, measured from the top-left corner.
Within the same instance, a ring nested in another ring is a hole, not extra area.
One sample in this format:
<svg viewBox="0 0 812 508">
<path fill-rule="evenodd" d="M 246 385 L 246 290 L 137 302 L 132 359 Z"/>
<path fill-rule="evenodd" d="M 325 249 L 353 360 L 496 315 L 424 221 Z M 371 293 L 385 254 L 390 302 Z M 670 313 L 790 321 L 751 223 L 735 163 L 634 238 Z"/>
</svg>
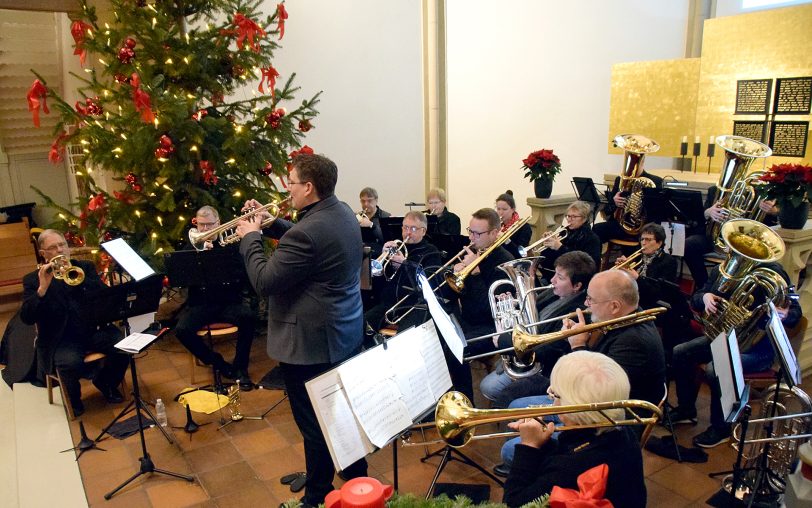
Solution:
<svg viewBox="0 0 812 508">
<path fill-rule="evenodd" d="M 288 188 L 296 224 L 277 219 L 268 257 L 260 219 L 241 221 L 240 252 L 251 285 L 268 297 L 268 355 L 279 361 L 293 417 L 304 438 L 307 483 L 302 503 L 317 506 L 333 489 L 333 465 L 305 381 L 360 352 L 363 340 L 361 232 L 355 213 L 334 195 L 338 168 L 321 155 L 293 159 Z M 259 206 L 249 200 L 246 206 Z M 268 215 L 265 215 L 268 217 Z M 366 476 L 366 460 L 344 476 Z"/>
</svg>

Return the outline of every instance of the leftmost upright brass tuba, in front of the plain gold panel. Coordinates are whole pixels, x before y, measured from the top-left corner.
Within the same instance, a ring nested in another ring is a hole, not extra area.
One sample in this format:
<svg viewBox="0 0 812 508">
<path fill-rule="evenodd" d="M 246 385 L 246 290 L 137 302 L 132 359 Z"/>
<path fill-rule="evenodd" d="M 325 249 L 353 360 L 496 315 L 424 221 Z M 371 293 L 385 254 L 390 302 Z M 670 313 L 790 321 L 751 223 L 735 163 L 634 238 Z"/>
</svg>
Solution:
<svg viewBox="0 0 812 508">
<path fill-rule="evenodd" d="M 643 160 L 646 158 L 646 154 L 659 150 L 660 145 L 641 134 L 619 134 L 615 136 L 613 142 L 616 147 L 624 150 L 623 171 L 620 173 L 618 192 L 627 195 L 626 204 L 615 210 L 614 217 L 624 231 L 630 235 L 636 235 L 646 223 L 643 189 L 655 187 L 651 179 L 641 176 Z"/>
</svg>

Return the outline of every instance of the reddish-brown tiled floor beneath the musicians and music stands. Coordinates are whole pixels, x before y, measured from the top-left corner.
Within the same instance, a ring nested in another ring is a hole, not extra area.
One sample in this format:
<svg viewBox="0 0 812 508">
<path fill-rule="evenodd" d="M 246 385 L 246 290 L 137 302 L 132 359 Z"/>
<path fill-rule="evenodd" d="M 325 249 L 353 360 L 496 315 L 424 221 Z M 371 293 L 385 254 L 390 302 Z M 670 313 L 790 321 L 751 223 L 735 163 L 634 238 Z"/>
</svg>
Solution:
<svg viewBox="0 0 812 508">
<path fill-rule="evenodd" d="M 5 316 L 2 316 L 5 317 Z M 5 319 L 0 320 L 4 325 Z M 256 381 L 275 364 L 264 352 L 264 336 L 254 342 L 251 375 Z M 233 346 L 219 346 L 228 357 Z M 171 402 L 176 394 L 189 386 L 188 353 L 170 336 L 159 341 L 147 354 L 137 360 L 139 384 L 144 400 L 157 397 L 167 402 L 171 426 L 182 427 L 186 421 L 183 407 Z M 198 367 L 199 378 L 206 379 L 204 368 Z M 475 372 L 475 378 L 482 371 Z M 129 376 L 129 372 L 128 372 Z M 87 433 L 95 437 L 121 410 L 122 405 L 106 405 L 101 395 L 89 384 L 83 385 L 87 412 L 81 418 Z M 45 394 L 43 393 L 43 397 Z M 254 390 L 243 393 L 242 413 L 258 415 L 283 397 L 283 392 Z M 704 429 L 707 423 L 707 392 L 700 395 L 700 424 L 679 426 L 678 436 L 683 445 Z M 193 483 L 168 476 L 153 474 L 136 479 L 118 492 L 110 501 L 105 493 L 137 472 L 141 456 L 140 441 L 136 436 L 125 440 L 107 438 L 100 443 L 106 451 L 90 450 L 79 464 L 90 506 L 114 508 L 183 507 L 183 506 L 275 506 L 298 497 L 287 486 L 281 485 L 280 477 L 304 466 L 301 436 L 293 422 L 289 405 L 283 402 L 263 420 L 244 420 L 218 430 L 218 414 L 194 413 L 197 423 L 209 423 L 193 434 L 181 428 L 172 429 L 177 445 L 167 442 L 157 429 L 145 433 L 146 444 L 155 467 L 190 474 Z M 78 440 L 78 422 L 71 424 L 74 438 Z M 483 428 L 482 431 L 488 429 Z M 662 430 L 655 431 L 662 433 Z M 486 468 L 499 460 L 500 442 L 477 441 L 463 451 Z M 438 448 L 435 446 L 433 449 Z M 436 471 L 439 459 L 425 462 L 423 447 L 406 447 L 398 450 L 398 472 L 401 492 L 423 496 Z M 733 450 L 719 446 L 710 450 L 710 458 L 704 464 L 679 464 L 649 452 L 644 452 L 646 484 L 649 506 L 685 507 L 705 506 L 707 499 L 719 488 L 719 480 L 708 477 L 709 472 L 729 469 L 735 459 Z M 390 447 L 369 457 L 370 475 L 384 483 L 393 483 L 392 451 Z M 501 499 L 501 489 L 475 469 L 452 461 L 445 468 L 441 482 L 490 484 L 491 499 Z M 341 481 L 336 478 L 336 487 Z"/>
</svg>

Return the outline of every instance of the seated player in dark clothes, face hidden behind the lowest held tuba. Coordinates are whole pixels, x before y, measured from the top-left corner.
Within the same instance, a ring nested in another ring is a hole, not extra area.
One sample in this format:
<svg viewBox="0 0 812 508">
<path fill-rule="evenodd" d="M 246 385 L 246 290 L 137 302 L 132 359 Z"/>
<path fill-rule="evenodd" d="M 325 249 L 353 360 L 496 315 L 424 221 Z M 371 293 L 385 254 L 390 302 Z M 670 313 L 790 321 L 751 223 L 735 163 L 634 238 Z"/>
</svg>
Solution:
<svg viewBox="0 0 812 508">
<path fill-rule="evenodd" d="M 789 285 L 789 276 L 781 268 L 781 265 L 778 263 L 766 263 L 761 266 L 779 274 Z M 707 312 L 716 315 L 719 312 L 719 301 L 722 298 L 728 298 L 735 291 L 734 289 L 728 293 L 720 292 L 717 289 L 718 278 L 719 267 L 717 266 L 711 271 L 710 278 L 705 285 L 691 297 L 691 306 L 694 310 L 699 313 Z M 755 302 L 762 302 L 765 298 L 760 289 L 757 289 L 752 296 Z M 791 299 L 789 306 L 777 306 L 777 309 L 786 328 L 792 328 L 801 320 L 801 306 L 797 300 Z M 766 317 L 756 316 L 753 319 L 758 320 L 755 333 L 762 335 L 766 325 Z M 673 370 L 677 389 L 677 407 L 671 412 L 671 421 L 675 424 L 696 423 L 696 399 L 699 393 L 699 386 L 696 383 L 696 369 L 699 365 L 709 365 L 713 361 L 710 343 L 715 338 L 703 335 L 674 348 Z M 774 352 L 769 338 L 762 336 L 752 346 L 748 344 L 742 345 L 747 337 L 737 336 L 737 339 L 741 347 L 742 368 L 745 374 L 761 372 L 770 368 L 773 364 Z M 711 388 L 711 424 L 704 432 L 694 437 L 694 444 L 703 448 L 713 448 L 724 443 L 730 437 L 730 425 L 725 423 L 722 412 L 719 383 L 716 381 L 711 368 L 712 366 L 709 365 L 707 372 Z"/>
</svg>

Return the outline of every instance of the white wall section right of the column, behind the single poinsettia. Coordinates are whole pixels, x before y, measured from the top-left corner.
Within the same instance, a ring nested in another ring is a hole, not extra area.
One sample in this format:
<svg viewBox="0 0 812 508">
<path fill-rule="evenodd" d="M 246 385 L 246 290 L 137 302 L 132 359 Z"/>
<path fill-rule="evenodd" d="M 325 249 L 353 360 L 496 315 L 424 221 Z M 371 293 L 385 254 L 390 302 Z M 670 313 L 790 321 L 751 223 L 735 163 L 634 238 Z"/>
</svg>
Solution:
<svg viewBox="0 0 812 508">
<path fill-rule="evenodd" d="M 620 156 L 607 154 L 611 66 L 682 58 L 687 18 L 688 0 L 448 0 L 451 209 L 466 222 L 512 189 L 528 214 L 519 168 L 540 148 L 564 168 L 553 194 L 571 193 L 573 176 L 618 171 Z"/>
</svg>

